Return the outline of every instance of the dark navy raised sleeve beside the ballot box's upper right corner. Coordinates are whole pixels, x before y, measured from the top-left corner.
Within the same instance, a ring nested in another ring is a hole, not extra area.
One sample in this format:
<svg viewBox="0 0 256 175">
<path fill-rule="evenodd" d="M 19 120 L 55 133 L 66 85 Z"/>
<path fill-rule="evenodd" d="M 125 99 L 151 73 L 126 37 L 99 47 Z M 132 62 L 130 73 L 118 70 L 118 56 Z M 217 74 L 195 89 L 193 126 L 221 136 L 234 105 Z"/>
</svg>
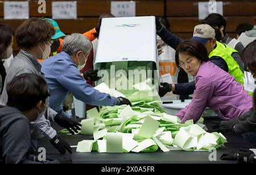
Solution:
<svg viewBox="0 0 256 175">
<path fill-rule="evenodd" d="M 172 34 L 171 31 L 167 30 L 163 27 L 163 29 L 158 32 L 158 36 L 164 41 L 164 43 L 168 44 L 170 47 L 176 50 L 177 45 L 179 45 L 183 39 L 177 37 L 176 35 Z"/>
</svg>

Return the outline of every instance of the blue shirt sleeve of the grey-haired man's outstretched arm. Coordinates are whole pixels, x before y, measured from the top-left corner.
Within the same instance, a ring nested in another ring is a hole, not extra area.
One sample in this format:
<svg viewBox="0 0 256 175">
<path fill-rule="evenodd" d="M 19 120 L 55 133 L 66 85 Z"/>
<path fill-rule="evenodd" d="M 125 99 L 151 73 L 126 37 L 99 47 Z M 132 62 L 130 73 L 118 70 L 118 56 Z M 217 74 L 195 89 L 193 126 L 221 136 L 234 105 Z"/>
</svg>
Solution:
<svg viewBox="0 0 256 175">
<path fill-rule="evenodd" d="M 118 99 L 109 94 L 101 93 L 86 84 L 79 70 L 74 65 L 67 65 L 57 77 L 57 81 L 71 94 L 84 103 L 94 106 L 114 106 Z"/>
</svg>

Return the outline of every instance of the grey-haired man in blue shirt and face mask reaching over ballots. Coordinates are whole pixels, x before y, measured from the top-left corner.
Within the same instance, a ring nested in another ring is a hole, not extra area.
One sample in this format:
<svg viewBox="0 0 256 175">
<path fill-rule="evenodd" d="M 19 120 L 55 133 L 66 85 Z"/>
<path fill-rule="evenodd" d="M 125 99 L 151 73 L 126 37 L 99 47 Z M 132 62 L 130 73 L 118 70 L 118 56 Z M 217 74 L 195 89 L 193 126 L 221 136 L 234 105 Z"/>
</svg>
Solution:
<svg viewBox="0 0 256 175">
<path fill-rule="evenodd" d="M 128 99 L 111 97 L 100 93 L 86 84 L 79 72 L 85 65 L 92 49 L 90 41 L 82 34 L 67 35 L 63 42 L 63 51 L 42 62 L 42 72 L 46 77 L 51 93 L 49 106 L 61 115 L 67 115 L 61 107 L 68 91 L 84 103 L 95 106 L 130 105 Z"/>
</svg>

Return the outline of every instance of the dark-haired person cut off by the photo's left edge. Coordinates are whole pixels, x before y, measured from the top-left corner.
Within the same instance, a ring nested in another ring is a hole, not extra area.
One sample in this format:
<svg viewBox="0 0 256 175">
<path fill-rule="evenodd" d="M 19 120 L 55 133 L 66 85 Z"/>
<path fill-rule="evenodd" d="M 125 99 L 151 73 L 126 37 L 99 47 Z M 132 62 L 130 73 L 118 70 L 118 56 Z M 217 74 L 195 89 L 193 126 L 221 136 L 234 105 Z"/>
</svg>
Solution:
<svg viewBox="0 0 256 175">
<path fill-rule="evenodd" d="M 0 97 L 5 85 L 6 69 L 4 61 L 13 54 L 14 31 L 6 24 L 0 24 Z"/>
</svg>

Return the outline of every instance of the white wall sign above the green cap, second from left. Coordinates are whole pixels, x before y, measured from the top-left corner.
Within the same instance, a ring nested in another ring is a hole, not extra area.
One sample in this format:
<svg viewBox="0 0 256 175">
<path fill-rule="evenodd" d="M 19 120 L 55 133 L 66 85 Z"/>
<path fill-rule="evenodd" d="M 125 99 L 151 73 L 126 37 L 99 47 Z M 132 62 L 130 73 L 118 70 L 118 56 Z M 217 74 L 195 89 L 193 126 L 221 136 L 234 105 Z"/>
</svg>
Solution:
<svg viewBox="0 0 256 175">
<path fill-rule="evenodd" d="M 52 2 L 53 19 L 77 19 L 76 1 Z"/>
</svg>

